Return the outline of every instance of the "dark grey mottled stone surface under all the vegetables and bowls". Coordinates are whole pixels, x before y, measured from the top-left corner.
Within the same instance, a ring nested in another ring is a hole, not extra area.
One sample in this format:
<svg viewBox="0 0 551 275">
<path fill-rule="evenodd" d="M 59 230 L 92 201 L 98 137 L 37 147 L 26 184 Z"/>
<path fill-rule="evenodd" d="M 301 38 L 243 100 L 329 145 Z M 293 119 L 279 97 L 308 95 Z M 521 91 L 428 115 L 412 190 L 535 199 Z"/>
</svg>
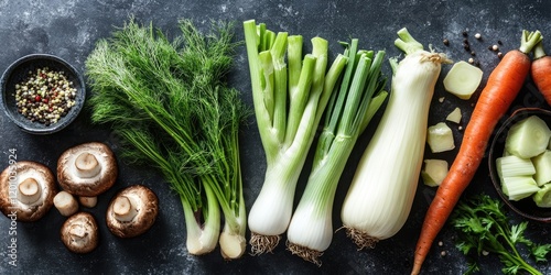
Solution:
<svg viewBox="0 0 551 275">
<path fill-rule="evenodd" d="M 421 43 L 432 44 L 436 51 L 449 54 L 454 61 L 466 61 L 471 55 L 462 47 L 462 31 L 467 30 L 476 51 L 475 58 L 485 72 L 484 81 L 498 63 L 496 54 L 487 46 L 503 42 L 505 53 L 519 45 L 522 29 L 541 30 L 551 35 L 551 4 L 547 1 L 161 1 L 161 0 L 50 0 L 8 1 L 0 0 L 0 72 L 17 58 L 32 53 L 57 55 L 80 72 L 84 62 L 97 40 L 106 37 L 114 26 L 121 26 L 128 15 L 133 14 L 143 23 L 152 21 L 166 33 L 177 32 L 176 21 L 190 18 L 199 28 L 206 28 L 210 19 L 237 22 L 237 37 L 242 38 L 240 22 L 256 19 L 266 22 L 274 31 L 302 34 L 305 42 L 318 35 L 331 43 L 332 54 L 341 52 L 337 41 L 360 38 L 365 48 L 387 50 L 388 56 L 399 56 L 393 46 L 396 31 L 407 26 Z M 475 33 L 483 34 L 476 41 Z M 449 38 L 450 46 L 444 46 Z M 306 45 L 307 47 L 309 45 Z M 549 41 L 545 46 L 551 48 Z M 551 50 L 550 50 L 551 51 Z M 444 66 L 443 74 L 450 69 Z M 385 68 L 389 75 L 390 69 Z M 251 105 L 250 82 L 245 47 L 236 58 L 230 82 L 244 92 Z M 443 102 L 439 99 L 444 98 Z M 443 121 L 455 107 L 461 107 L 464 122 L 467 121 L 472 103 L 446 94 L 439 81 L 434 95 L 429 123 Z M 528 80 L 522 94 L 511 108 L 520 106 L 543 107 L 541 97 Z M 0 114 L 0 166 L 8 165 L 10 150 L 17 150 L 18 160 L 33 160 L 55 168 L 56 158 L 69 146 L 87 141 L 99 141 L 118 150 L 117 140 L 109 129 L 91 125 L 85 110 L 67 129 L 47 136 L 30 135 L 20 131 Z M 462 132 L 454 129 L 456 144 Z M 242 169 L 247 209 L 260 191 L 266 164 L 260 139 L 253 119 L 241 133 Z M 357 144 L 335 198 L 334 227 L 338 228 L 338 209 L 347 185 L 369 133 Z M 457 146 L 458 147 L 458 146 Z M 444 153 L 450 162 L 456 151 Z M 429 156 L 430 154 L 428 154 Z M 307 166 L 306 166 L 307 168 Z M 301 177 L 298 194 L 304 188 L 305 175 Z M 144 184 L 154 189 L 160 198 L 160 217 L 144 235 L 120 240 L 109 233 L 104 212 L 107 202 L 117 189 L 130 184 Z M 475 180 L 465 195 L 485 191 L 496 196 L 491 189 L 487 164 L 484 162 Z M 62 244 L 58 231 L 64 218 L 56 210 L 34 223 L 17 223 L 17 235 L 10 235 L 10 221 L 0 217 L 0 274 L 409 274 L 417 237 L 434 189 L 419 185 L 413 208 L 402 230 L 389 240 L 379 242 L 376 249 L 358 252 L 347 240 L 344 231 L 337 231 L 333 243 L 317 267 L 291 255 L 283 243 L 273 254 L 250 256 L 226 262 L 217 249 L 205 256 L 192 256 L 185 248 L 185 226 L 180 200 L 153 170 L 121 163 L 117 186 L 100 196 L 99 205 L 91 210 L 100 223 L 100 244 L 90 254 L 76 255 Z M 514 216 L 515 217 L 515 216 Z M 539 242 L 550 242 L 549 224 L 531 222 L 529 233 Z M 249 233 L 248 233 L 249 234 Z M 9 264 L 11 238 L 17 238 L 17 266 Z M 445 227 L 424 264 L 425 274 L 461 274 L 466 270 L 466 258 L 454 246 L 455 231 Z M 441 251 L 446 255 L 442 256 Z M 495 255 L 482 258 L 482 274 L 497 274 L 500 264 Z M 548 265 L 538 265 L 547 274 Z"/>
</svg>

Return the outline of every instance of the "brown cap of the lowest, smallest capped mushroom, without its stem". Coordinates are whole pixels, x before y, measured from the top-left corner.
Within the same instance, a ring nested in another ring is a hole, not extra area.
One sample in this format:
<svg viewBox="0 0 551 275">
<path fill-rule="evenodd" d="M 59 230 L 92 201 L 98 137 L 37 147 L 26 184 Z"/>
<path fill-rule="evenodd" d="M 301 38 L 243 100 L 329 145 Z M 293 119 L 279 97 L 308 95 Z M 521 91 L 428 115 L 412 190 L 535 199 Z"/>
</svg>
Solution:
<svg viewBox="0 0 551 275">
<path fill-rule="evenodd" d="M 78 230 L 82 238 L 75 238 L 72 230 Z M 99 243 L 98 226 L 91 213 L 77 212 L 63 223 L 60 235 L 63 244 L 73 253 L 88 253 L 95 250 Z"/>
</svg>

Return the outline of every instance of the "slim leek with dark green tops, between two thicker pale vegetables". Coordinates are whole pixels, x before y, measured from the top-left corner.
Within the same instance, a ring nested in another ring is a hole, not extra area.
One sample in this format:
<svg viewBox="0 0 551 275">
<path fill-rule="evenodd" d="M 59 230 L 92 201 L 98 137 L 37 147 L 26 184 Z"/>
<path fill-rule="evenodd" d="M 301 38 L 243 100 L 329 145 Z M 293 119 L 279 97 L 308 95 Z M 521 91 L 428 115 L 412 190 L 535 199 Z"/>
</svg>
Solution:
<svg viewBox="0 0 551 275">
<path fill-rule="evenodd" d="M 372 51 L 357 51 L 357 44 L 353 40 L 345 50 L 346 73 L 326 109 L 306 188 L 288 229 L 288 249 L 317 265 L 333 238 L 333 200 L 346 161 L 387 97 L 381 74 L 385 52 L 374 56 Z"/>
</svg>

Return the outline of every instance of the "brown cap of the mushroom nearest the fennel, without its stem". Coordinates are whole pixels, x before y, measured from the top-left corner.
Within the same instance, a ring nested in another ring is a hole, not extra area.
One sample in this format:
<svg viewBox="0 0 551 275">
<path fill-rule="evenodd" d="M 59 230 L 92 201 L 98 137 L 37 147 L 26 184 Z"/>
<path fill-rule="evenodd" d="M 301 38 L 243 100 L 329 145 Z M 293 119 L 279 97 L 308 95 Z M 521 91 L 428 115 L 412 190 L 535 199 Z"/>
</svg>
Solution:
<svg viewBox="0 0 551 275">
<path fill-rule="evenodd" d="M 138 215 L 130 221 L 119 221 L 115 218 L 114 202 L 119 196 L 133 197 L 138 204 Z M 132 185 L 120 190 L 107 208 L 106 222 L 112 234 L 119 238 L 132 238 L 143 234 L 155 222 L 159 212 L 159 199 L 156 195 L 143 185 Z"/>
</svg>

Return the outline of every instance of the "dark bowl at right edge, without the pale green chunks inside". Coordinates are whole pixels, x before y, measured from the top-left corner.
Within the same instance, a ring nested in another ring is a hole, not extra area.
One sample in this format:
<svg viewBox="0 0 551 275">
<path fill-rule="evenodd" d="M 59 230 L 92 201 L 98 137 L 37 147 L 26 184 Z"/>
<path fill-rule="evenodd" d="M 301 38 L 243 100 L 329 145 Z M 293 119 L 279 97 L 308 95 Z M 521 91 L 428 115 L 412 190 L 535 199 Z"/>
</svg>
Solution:
<svg viewBox="0 0 551 275">
<path fill-rule="evenodd" d="M 533 202 L 531 197 L 518 201 L 509 200 L 507 195 L 501 191 L 501 183 L 499 180 L 499 176 L 497 175 L 496 160 L 504 154 L 505 140 L 509 129 L 515 123 L 531 116 L 538 116 L 545 121 L 548 125 L 551 125 L 551 111 L 539 108 L 523 108 L 515 111 L 511 117 L 508 118 L 498 129 L 494 140 L 491 141 L 488 156 L 489 173 L 497 194 L 503 199 L 505 205 L 507 205 L 512 211 L 531 220 L 551 222 L 551 208 L 540 208 L 536 206 L 536 202 Z"/>
</svg>

